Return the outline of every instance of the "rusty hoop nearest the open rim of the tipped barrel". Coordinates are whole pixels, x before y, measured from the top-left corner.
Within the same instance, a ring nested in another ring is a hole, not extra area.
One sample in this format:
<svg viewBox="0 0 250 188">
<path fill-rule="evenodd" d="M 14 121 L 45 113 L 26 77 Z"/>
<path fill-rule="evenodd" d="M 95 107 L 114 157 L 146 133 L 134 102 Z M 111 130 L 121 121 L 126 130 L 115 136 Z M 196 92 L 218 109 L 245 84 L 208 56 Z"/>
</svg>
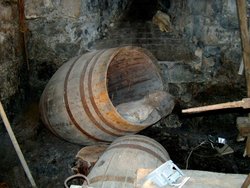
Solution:
<svg viewBox="0 0 250 188">
<path fill-rule="evenodd" d="M 94 67 L 96 65 L 97 61 L 95 61 L 91 67 L 90 67 L 90 71 L 89 71 L 89 79 L 88 79 L 88 87 L 90 88 L 89 89 L 89 95 L 90 95 L 90 101 L 91 101 L 91 104 L 96 112 L 96 114 L 99 116 L 99 118 L 107 125 L 109 126 L 110 128 L 116 130 L 116 131 L 119 131 L 119 132 L 124 132 L 124 133 L 135 133 L 134 131 L 126 131 L 126 130 L 122 130 L 122 129 L 119 129 L 117 127 L 115 127 L 112 123 L 110 123 L 108 120 L 106 120 L 103 115 L 101 114 L 99 108 L 97 107 L 96 103 L 95 103 L 95 100 L 94 100 L 94 97 L 93 97 L 93 90 L 92 90 L 92 75 L 93 75 L 93 71 L 94 71 Z"/>
</svg>

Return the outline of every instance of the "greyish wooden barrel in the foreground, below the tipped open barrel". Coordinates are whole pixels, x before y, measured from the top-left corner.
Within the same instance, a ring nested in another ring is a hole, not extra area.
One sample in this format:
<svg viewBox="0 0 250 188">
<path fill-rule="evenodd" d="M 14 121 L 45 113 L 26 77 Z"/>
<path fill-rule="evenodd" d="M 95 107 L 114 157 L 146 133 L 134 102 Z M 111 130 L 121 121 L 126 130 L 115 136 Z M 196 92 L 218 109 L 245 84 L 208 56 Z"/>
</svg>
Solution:
<svg viewBox="0 0 250 188">
<path fill-rule="evenodd" d="M 169 159 L 167 151 L 151 138 L 141 135 L 120 137 L 90 171 L 90 187 L 132 188 L 139 168 L 155 169 Z"/>
</svg>

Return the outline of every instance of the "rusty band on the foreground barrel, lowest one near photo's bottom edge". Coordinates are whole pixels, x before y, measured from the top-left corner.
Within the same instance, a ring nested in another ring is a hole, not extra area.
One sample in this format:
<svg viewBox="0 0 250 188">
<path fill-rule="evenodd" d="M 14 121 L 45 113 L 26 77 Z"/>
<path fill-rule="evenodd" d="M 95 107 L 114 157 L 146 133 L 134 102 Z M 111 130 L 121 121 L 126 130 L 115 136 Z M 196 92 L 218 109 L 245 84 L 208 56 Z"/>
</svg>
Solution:
<svg viewBox="0 0 250 188">
<path fill-rule="evenodd" d="M 108 176 L 108 175 L 103 175 L 103 176 L 96 176 L 94 178 L 91 178 L 89 180 L 90 184 L 91 183 L 97 183 L 97 182 L 105 182 L 105 181 L 112 181 L 112 182 L 126 182 L 126 183 L 131 183 L 133 184 L 135 179 L 132 177 L 125 177 L 125 176 Z"/>
</svg>

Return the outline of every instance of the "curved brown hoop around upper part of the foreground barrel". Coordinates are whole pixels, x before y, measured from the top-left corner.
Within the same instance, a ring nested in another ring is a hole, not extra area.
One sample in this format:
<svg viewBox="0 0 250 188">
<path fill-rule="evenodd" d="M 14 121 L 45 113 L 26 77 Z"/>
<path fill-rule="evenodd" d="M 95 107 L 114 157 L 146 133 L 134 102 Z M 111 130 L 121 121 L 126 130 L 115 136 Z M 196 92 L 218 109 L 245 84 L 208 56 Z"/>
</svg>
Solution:
<svg viewBox="0 0 250 188">
<path fill-rule="evenodd" d="M 143 147 L 143 146 L 139 146 L 139 145 L 135 145 L 135 144 L 119 144 L 119 145 L 116 145 L 116 146 L 111 146 L 109 147 L 106 151 L 108 150 L 112 150 L 112 149 L 119 149 L 119 148 L 127 148 L 127 149 L 137 149 L 137 150 L 141 150 L 141 151 L 144 151 L 152 156 L 154 156 L 155 158 L 157 158 L 159 161 L 161 161 L 162 163 L 165 163 L 166 160 L 163 159 L 163 157 L 161 157 L 158 153 L 146 148 L 146 147 Z"/>
</svg>

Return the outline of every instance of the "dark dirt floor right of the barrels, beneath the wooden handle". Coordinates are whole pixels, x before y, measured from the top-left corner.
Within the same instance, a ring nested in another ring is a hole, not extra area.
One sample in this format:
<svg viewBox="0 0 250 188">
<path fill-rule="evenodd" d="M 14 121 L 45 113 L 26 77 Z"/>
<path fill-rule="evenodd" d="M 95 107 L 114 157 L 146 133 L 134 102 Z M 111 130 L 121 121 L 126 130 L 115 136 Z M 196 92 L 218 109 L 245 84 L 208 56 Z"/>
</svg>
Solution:
<svg viewBox="0 0 250 188">
<path fill-rule="evenodd" d="M 250 158 L 243 157 L 245 141 L 236 141 L 238 136 L 236 118 L 244 114 L 243 111 L 231 110 L 200 116 L 179 115 L 180 127 L 168 128 L 163 122 L 163 125 L 153 126 L 142 133 L 159 141 L 181 169 L 248 174 Z M 218 144 L 212 145 L 210 142 L 211 136 L 225 138 L 234 152 L 220 155 L 213 148 Z"/>
</svg>

